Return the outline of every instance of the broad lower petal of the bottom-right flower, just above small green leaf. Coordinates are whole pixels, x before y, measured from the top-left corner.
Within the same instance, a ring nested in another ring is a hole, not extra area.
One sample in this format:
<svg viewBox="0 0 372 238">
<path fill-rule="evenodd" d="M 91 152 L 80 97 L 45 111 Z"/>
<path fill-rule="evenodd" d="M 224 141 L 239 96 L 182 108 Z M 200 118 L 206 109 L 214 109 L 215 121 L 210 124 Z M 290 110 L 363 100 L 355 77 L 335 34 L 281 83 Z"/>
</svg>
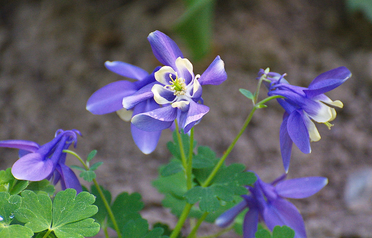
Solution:
<svg viewBox="0 0 372 238">
<path fill-rule="evenodd" d="M 269 201 L 262 213 L 267 228 L 273 231 L 275 226 L 289 226 L 295 231 L 295 238 L 306 238 L 304 220 L 297 208 L 284 199 Z"/>
</svg>

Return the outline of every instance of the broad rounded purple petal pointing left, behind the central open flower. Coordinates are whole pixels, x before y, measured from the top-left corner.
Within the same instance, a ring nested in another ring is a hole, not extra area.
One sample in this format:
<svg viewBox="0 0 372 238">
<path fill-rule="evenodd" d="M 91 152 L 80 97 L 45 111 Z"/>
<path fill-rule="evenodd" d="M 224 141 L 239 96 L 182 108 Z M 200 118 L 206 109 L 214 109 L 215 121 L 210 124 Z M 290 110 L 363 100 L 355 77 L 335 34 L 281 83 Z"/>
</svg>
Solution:
<svg viewBox="0 0 372 238">
<path fill-rule="evenodd" d="M 109 83 L 90 96 L 86 109 L 93 114 L 106 114 L 123 108 L 123 98 L 135 93 L 134 83 L 121 80 Z"/>
</svg>

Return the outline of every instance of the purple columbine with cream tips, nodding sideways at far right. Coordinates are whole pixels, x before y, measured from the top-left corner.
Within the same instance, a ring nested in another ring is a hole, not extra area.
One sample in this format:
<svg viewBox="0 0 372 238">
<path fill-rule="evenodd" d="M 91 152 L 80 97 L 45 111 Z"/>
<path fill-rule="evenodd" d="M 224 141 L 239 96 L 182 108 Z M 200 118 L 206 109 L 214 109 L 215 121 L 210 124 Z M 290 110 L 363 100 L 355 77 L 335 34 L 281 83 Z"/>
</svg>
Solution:
<svg viewBox="0 0 372 238">
<path fill-rule="evenodd" d="M 264 74 L 260 70 L 259 77 Z M 269 96 L 281 95 L 285 99 L 278 99 L 284 108 L 283 122 L 280 126 L 280 151 L 283 165 L 288 172 L 291 160 L 292 143 L 305 154 L 311 152 L 310 142 L 320 140 L 320 134 L 314 121 L 324 123 L 329 129 L 333 126 L 330 121 L 336 118 L 333 107 L 342 108 L 341 101 L 332 101 L 324 95 L 340 86 L 350 76 L 351 72 L 346 67 L 338 67 L 317 76 L 307 88 L 290 85 L 285 79 L 286 74 L 270 72 L 266 82 Z"/>
</svg>

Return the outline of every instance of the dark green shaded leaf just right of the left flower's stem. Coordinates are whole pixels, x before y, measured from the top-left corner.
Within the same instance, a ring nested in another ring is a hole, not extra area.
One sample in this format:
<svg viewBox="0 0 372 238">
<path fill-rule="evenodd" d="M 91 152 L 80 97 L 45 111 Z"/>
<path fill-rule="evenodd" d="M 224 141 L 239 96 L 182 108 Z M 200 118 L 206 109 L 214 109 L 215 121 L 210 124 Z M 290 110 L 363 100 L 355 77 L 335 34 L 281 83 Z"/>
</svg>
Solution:
<svg viewBox="0 0 372 238">
<path fill-rule="evenodd" d="M 128 194 L 126 192 L 119 194 L 111 206 L 119 229 L 122 230 L 129 220 L 141 219 L 139 212 L 143 207 L 144 203 L 141 201 L 141 194 Z M 111 220 L 108 220 L 108 225 L 113 228 Z"/>
</svg>

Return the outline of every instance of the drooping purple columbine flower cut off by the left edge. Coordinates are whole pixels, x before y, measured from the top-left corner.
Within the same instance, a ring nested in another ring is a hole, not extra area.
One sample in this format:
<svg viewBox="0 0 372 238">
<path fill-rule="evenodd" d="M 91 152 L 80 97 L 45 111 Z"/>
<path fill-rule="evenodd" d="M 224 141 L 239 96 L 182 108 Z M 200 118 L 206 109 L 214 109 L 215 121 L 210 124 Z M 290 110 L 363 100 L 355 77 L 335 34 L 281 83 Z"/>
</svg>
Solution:
<svg viewBox="0 0 372 238">
<path fill-rule="evenodd" d="M 55 137 L 50 142 L 40 146 L 29 140 L 1 140 L 0 147 L 16 148 L 19 157 L 12 166 L 12 174 L 16 179 L 41 181 L 53 179 L 57 184 L 61 181 L 63 190 L 74 188 L 77 193 L 83 191 L 80 182 L 74 172 L 65 165 L 66 153 L 72 143 L 76 147 L 78 130 L 57 130 Z"/>
</svg>

